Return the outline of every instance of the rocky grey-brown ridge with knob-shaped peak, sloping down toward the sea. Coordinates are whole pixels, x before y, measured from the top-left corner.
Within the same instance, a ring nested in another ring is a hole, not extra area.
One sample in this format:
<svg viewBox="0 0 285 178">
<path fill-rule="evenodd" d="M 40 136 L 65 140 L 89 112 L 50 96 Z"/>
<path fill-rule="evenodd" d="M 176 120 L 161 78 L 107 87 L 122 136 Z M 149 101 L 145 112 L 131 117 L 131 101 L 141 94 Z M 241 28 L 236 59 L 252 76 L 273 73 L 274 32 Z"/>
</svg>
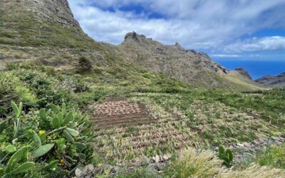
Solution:
<svg viewBox="0 0 285 178">
<path fill-rule="evenodd" d="M 135 32 L 127 33 L 119 46 L 125 58 L 149 70 L 177 80 L 209 88 L 256 88 L 254 83 L 212 61 L 206 53 L 186 50 L 179 43 L 163 45 Z"/>
</svg>

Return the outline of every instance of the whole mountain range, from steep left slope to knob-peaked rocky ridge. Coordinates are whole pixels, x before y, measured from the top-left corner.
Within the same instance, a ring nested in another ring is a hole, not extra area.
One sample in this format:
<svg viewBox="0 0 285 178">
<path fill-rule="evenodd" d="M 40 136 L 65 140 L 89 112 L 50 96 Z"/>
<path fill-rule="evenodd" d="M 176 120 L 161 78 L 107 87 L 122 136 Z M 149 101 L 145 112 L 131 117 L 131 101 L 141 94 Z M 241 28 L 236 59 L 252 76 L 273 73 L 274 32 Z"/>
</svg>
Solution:
<svg viewBox="0 0 285 178">
<path fill-rule="evenodd" d="M 94 41 L 73 18 L 67 0 L 0 2 L 0 68 L 11 62 L 37 61 L 59 70 L 72 69 L 85 56 L 103 71 L 102 80 L 135 77 L 147 69 L 197 87 L 259 89 L 206 53 L 179 43 L 163 45 L 135 32 L 128 33 L 119 46 Z"/>
</svg>

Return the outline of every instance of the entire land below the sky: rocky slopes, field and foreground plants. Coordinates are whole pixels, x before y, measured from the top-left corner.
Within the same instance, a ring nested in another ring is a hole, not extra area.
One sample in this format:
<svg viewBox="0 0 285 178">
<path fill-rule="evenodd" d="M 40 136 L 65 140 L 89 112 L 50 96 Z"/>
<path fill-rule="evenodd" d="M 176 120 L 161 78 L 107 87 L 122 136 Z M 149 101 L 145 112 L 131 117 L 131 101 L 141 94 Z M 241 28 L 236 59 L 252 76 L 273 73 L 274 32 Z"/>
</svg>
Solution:
<svg viewBox="0 0 285 178">
<path fill-rule="evenodd" d="M 285 90 L 66 0 L 0 0 L 0 177 L 285 177 Z"/>
</svg>

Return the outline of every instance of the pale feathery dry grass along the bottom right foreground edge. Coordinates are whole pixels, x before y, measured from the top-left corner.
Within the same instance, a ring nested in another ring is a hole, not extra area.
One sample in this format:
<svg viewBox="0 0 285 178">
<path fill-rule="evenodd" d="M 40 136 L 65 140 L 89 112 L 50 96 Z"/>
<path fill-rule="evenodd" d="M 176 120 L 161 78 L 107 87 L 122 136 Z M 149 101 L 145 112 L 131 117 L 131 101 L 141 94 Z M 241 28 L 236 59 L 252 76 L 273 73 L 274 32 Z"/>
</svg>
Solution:
<svg viewBox="0 0 285 178">
<path fill-rule="evenodd" d="M 285 172 L 282 169 L 260 167 L 256 164 L 242 171 L 234 171 L 222 167 L 222 161 L 214 152 L 197 152 L 189 148 L 182 151 L 180 157 L 175 159 L 170 167 L 167 167 L 165 177 L 269 178 L 285 177 Z"/>
</svg>

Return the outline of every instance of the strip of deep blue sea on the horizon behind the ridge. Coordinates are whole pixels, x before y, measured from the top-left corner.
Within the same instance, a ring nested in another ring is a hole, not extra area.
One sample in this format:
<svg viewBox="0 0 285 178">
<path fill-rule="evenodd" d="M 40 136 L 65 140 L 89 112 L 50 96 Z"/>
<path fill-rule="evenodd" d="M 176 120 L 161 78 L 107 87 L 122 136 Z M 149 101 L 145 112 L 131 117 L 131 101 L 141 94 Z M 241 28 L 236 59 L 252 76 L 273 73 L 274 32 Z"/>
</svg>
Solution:
<svg viewBox="0 0 285 178">
<path fill-rule="evenodd" d="M 278 75 L 285 72 L 285 61 L 233 61 L 214 60 L 229 70 L 245 68 L 255 80 L 264 75 Z"/>
</svg>

